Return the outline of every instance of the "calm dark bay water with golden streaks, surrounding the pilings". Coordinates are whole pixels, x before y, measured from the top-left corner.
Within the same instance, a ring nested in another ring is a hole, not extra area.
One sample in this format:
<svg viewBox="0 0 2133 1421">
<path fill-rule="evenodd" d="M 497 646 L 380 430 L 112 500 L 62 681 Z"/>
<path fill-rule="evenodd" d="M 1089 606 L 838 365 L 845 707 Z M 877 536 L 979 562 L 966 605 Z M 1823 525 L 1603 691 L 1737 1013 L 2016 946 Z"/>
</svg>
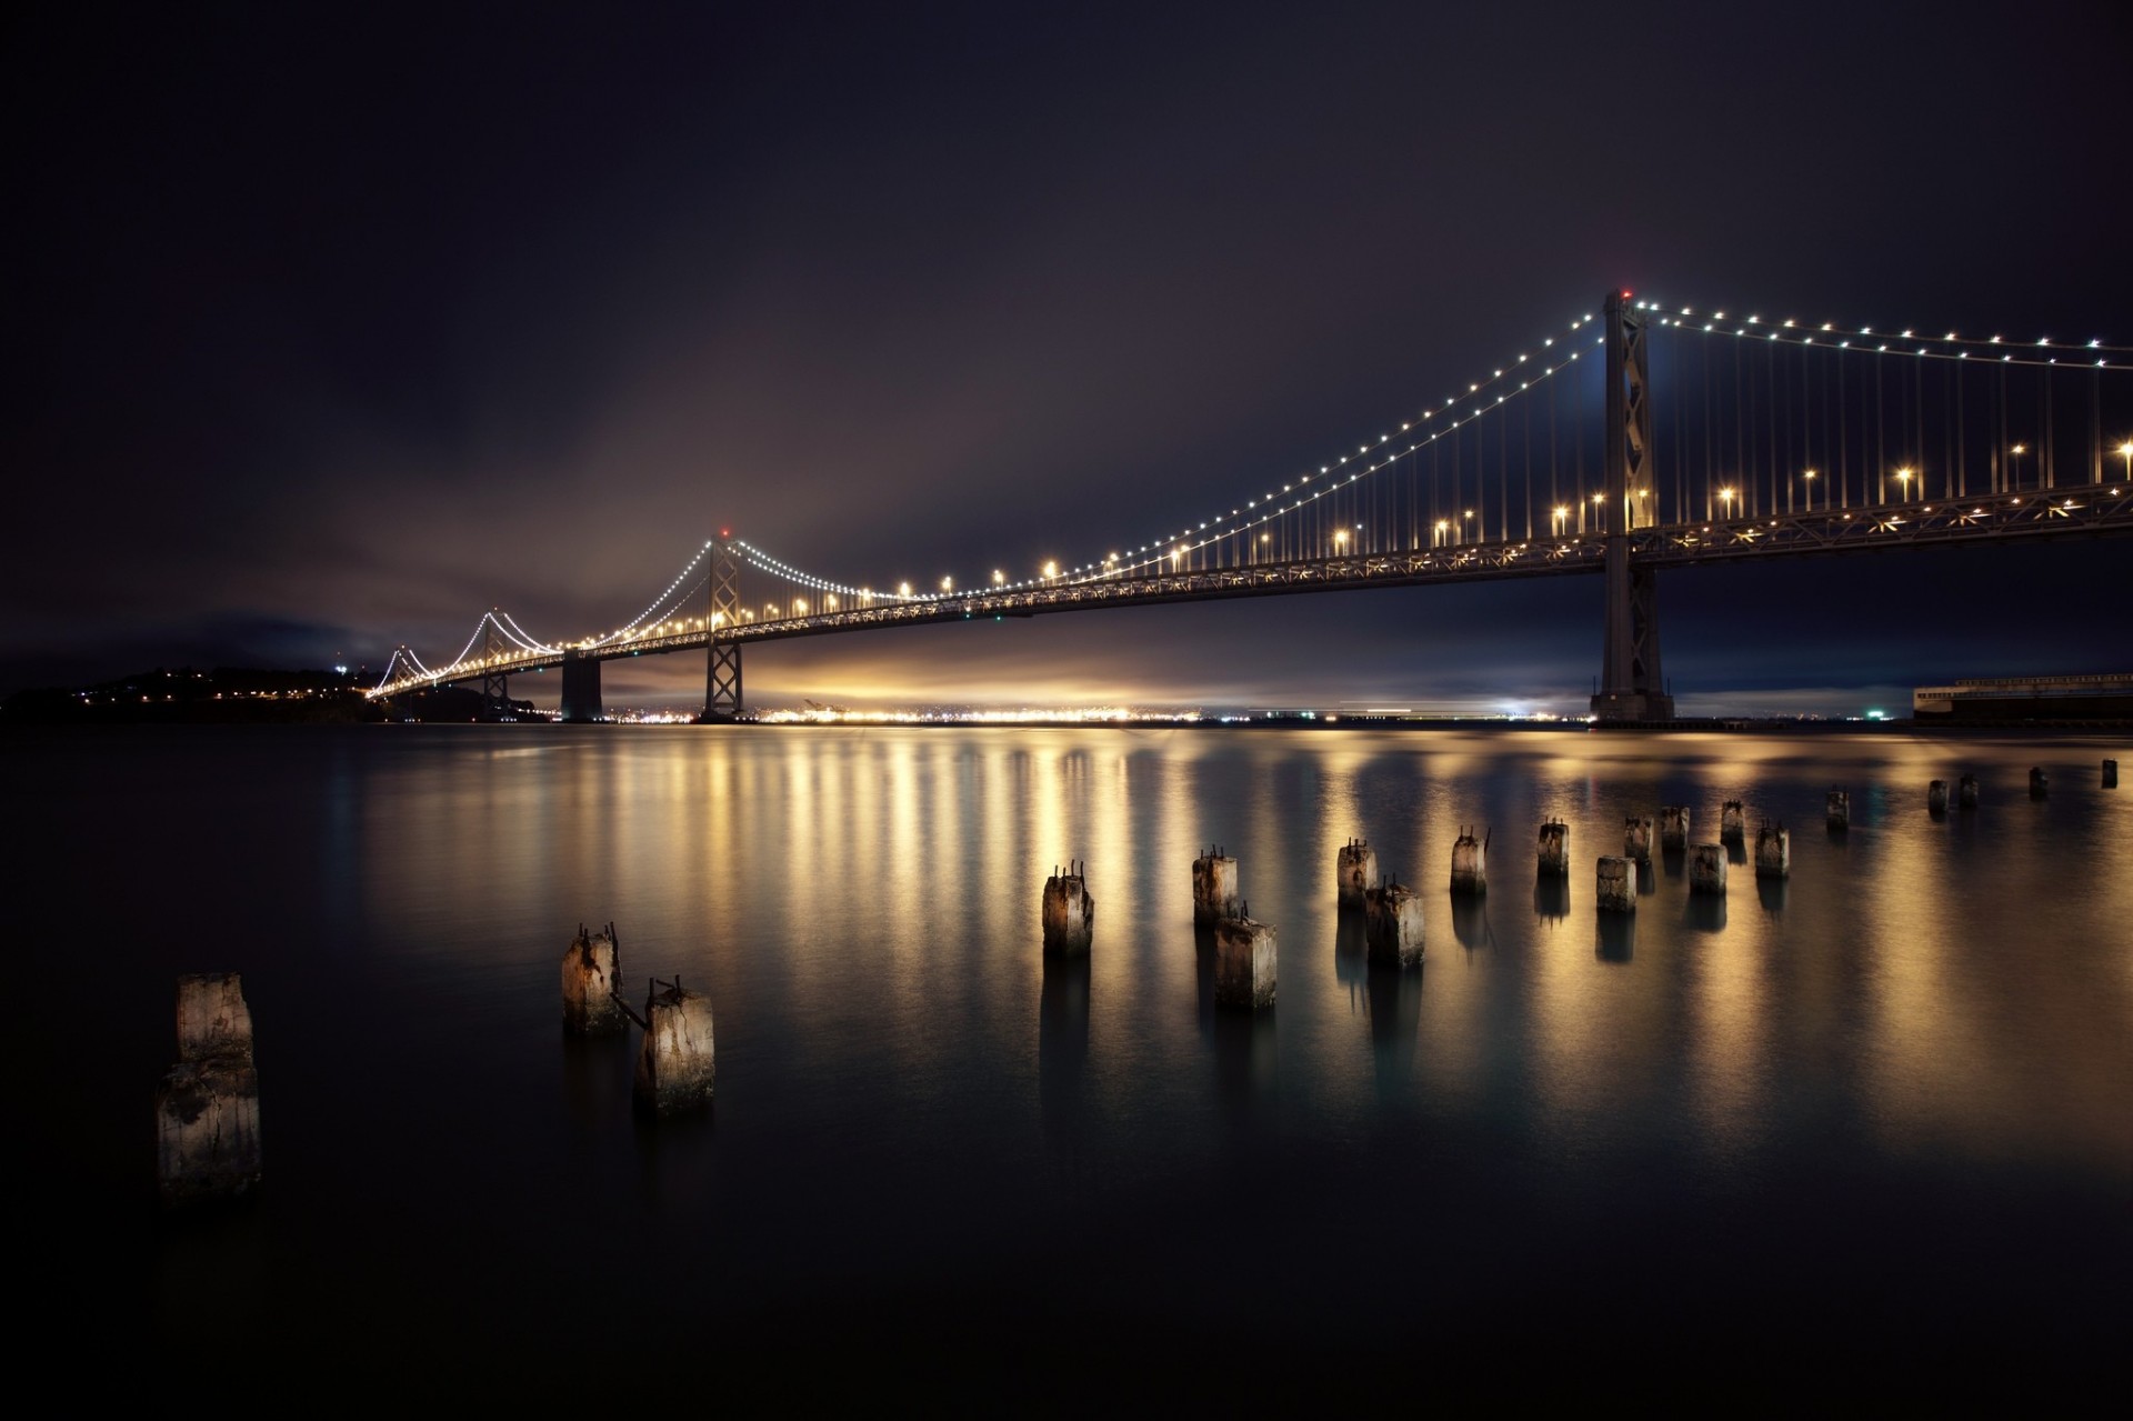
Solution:
<svg viewBox="0 0 2133 1421">
<path fill-rule="evenodd" d="M 1299 1410 L 2035 1402 L 2133 1323 L 2120 740 L 348 728 L 0 738 L 15 1334 L 177 1402 Z M 2046 800 L 2028 766 L 2050 772 Z M 1926 813 L 1926 781 L 1984 781 Z M 1824 792 L 1849 785 L 1830 836 Z M 1794 830 L 1723 905 L 1625 813 Z M 1576 873 L 1536 890 L 1542 817 Z M 1461 824 L 1491 892 L 1448 894 Z M 1333 856 L 1423 885 L 1372 975 Z M 1218 1013 L 1190 860 L 1280 1005 Z M 1086 962 L 1039 888 L 1088 860 Z M 559 1031 L 580 924 L 717 1011 L 704 1118 Z M 267 1182 L 166 1220 L 173 979 L 235 969 Z M 252 1391 L 258 1387 L 258 1391 Z"/>
</svg>

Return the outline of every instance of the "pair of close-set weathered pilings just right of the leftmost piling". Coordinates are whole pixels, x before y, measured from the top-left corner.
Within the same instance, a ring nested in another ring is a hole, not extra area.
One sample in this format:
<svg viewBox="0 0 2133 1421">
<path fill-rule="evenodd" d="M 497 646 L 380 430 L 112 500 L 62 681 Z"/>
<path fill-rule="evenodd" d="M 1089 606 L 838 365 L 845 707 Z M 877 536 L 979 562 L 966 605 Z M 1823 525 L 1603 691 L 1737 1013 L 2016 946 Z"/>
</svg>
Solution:
<svg viewBox="0 0 2133 1421">
<path fill-rule="evenodd" d="M 717 1050 L 710 1031 L 710 999 L 672 981 L 651 979 L 644 1011 L 621 994 L 623 949 L 610 922 L 599 932 L 578 926 L 563 949 L 563 1031 L 578 1037 L 625 1033 L 636 1022 L 644 1033 L 638 1048 L 634 1095 L 638 1109 L 668 1116 L 710 1105 L 717 1080 Z"/>
</svg>

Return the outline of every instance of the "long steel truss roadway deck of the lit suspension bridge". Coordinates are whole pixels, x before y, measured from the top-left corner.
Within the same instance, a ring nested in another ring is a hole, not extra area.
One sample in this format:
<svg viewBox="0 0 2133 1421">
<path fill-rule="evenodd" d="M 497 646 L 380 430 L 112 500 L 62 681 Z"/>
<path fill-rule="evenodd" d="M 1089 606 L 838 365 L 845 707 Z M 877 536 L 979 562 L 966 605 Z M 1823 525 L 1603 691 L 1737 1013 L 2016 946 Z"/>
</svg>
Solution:
<svg viewBox="0 0 2133 1421">
<path fill-rule="evenodd" d="M 1766 557 L 1881 553 L 1892 548 L 2009 544 L 2039 538 L 2103 538 L 2133 533 L 2133 486 L 2075 484 L 2063 489 L 1996 493 L 1930 504 L 1883 504 L 1854 510 L 1809 510 L 1753 518 L 1653 525 L 1632 531 L 1630 559 L 1642 568 L 1691 568 Z M 879 627 L 924 627 L 979 617 L 1037 617 L 1160 602 L 1216 597 L 1276 597 L 1365 587 L 1423 587 L 1602 572 L 1606 536 L 1476 542 L 1406 553 L 1348 553 L 1282 563 L 1180 568 L 1175 572 L 1116 572 L 1041 587 L 983 589 L 941 597 L 887 600 L 875 606 L 742 621 L 721 636 L 744 646 L 793 636 L 830 636 Z M 599 661 L 670 651 L 704 651 L 702 627 L 665 636 L 638 636 L 580 651 Z M 576 651 L 576 649 L 574 649 Z M 429 676 L 401 676 L 371 698 L 422 687 L 518 674 L 561 666 L 563 651 L 523 651 L 437 668 Z"/>
</svg>

